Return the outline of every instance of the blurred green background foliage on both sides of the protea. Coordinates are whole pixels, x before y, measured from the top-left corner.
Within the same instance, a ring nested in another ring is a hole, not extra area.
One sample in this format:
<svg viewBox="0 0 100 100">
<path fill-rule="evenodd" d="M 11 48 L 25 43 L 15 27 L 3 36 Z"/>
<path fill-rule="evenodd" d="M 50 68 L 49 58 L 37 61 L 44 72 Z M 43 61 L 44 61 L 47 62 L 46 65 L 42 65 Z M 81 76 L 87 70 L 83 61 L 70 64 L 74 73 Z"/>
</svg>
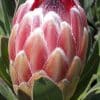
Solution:
<svg viewBox="0 0 100 100">
<path fill-rule="evenodd" d="M 0 0 L 0 99 L 17 100 L 9 77 L 7 43 L 11 21 L 18 6 L 25 0 Z M 80 0 L 89 24 L 89 49 L 87 61 L 72 100 L 99 100 L 100 98 L 100 1 Z M 6 58 L 6 59 L 5 59 Z M 5 88 L 6 87 L 6 88 Z M 7 91 L 7 92 L 6 92 Z M 9 91 L 9 94 L 7 94 Z M 11 95 L 11 97 L 9 97 Z M 55 98 L 54 98 L 55 99 Z"/>
</svg>

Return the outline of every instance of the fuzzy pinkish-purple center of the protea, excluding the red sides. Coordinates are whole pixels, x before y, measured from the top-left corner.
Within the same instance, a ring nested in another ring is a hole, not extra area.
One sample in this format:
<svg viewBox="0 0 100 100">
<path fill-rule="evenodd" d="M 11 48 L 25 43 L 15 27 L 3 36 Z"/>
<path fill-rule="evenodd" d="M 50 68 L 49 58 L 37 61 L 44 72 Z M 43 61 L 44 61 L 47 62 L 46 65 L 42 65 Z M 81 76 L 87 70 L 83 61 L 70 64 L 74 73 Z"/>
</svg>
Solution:
<svg viewBox="0 0 100 100">
<path fill-rule="evenodd" d="M 66 8 L 61 0 L 44 0 L 41 4 L 44 13 L 48 11 L 56 12 L 62 20 L 66 20 Z"/>
</svg>

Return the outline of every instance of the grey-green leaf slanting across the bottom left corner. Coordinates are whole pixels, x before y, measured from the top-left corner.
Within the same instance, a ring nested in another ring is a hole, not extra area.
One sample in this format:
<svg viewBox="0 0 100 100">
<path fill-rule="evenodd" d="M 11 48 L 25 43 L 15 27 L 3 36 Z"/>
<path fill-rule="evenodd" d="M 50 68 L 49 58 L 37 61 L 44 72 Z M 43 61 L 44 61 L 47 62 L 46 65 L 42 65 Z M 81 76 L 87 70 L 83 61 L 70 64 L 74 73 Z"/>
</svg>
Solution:
<svg viewBox="0 0 100 100">
<path fill-rule="evenodd" d="M 7 100 L 17 100 L 12 90 L 2 79 L 0 79 L 0 94 Z"/>
</svg>

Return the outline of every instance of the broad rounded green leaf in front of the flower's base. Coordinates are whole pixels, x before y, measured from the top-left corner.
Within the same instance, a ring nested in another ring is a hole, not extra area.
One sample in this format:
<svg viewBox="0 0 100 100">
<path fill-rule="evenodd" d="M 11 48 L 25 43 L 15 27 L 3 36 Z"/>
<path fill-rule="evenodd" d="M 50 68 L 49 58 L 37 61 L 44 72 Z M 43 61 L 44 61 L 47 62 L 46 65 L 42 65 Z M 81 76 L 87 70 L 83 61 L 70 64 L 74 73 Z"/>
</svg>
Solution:
<svg viewBox="0 0 100 100">
<path fill-rule="evenodd" d="M 56 84 L 41 77 L 34 83 L 33 100 L 63 100 L 63 96 Z"/>
</svg>

